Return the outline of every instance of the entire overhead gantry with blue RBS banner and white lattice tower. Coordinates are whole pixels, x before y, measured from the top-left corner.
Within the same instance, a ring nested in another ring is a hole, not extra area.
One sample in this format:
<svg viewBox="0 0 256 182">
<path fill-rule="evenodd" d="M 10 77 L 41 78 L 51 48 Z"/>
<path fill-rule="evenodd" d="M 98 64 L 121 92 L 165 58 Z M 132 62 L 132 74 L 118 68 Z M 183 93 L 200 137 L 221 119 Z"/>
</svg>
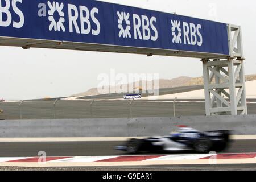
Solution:
<svg viewBox="0 0 256 182">
<path fill-rule="evenodd" d="M 241 27 L 92 0 L 0 0 L 0 44 L 197 57 L 207 115 L 247 113 Z"/>
</svg>

